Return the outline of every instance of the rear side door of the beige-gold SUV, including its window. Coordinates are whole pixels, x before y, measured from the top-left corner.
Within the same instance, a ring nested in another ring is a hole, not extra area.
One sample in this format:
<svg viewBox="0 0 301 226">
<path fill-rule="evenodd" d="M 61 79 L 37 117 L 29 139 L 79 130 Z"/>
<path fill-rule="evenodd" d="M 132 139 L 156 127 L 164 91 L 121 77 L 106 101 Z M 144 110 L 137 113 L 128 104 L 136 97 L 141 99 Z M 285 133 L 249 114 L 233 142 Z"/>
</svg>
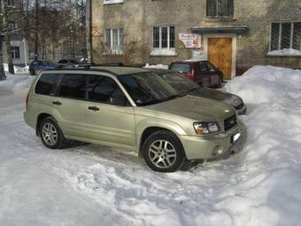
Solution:
<svg viewBox="0 0 301 226">
<path fill-rule="evenodd" d="M 51 104 L 58 115 L 56 120 L 66 136 L 85 136 L 85 74 L 62 74 Z"/>
</svg>

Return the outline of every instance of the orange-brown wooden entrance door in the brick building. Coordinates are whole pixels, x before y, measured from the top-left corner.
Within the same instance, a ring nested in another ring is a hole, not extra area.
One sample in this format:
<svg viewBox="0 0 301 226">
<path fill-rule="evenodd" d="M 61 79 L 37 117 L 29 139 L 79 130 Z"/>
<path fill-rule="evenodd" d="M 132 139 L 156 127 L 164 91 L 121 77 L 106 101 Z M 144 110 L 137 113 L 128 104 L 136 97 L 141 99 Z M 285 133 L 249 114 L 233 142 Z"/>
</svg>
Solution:
<svg viewBox="0 0 301 226">
<path fill-rule="evenodd" d="M 232 74 L 232 38 L 209 38 L 208 60 L 219 67 L 224 79 L 231 79 Z"/>
</svg>

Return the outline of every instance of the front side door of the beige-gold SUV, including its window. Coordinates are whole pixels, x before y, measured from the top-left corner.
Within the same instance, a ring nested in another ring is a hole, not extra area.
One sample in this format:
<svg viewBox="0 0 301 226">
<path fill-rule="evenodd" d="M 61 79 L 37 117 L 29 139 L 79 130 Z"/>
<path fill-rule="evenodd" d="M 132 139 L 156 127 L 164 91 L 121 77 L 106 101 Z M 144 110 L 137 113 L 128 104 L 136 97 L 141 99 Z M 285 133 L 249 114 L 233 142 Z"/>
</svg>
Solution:
<svg viewBox="0 0 301 226">
<path fill-rule="evenodd" d="M 111 77 L 90 75 L 86 121 L 89 138 L 113 146 L 135 147 L 135 113 Z"/>
</svg>

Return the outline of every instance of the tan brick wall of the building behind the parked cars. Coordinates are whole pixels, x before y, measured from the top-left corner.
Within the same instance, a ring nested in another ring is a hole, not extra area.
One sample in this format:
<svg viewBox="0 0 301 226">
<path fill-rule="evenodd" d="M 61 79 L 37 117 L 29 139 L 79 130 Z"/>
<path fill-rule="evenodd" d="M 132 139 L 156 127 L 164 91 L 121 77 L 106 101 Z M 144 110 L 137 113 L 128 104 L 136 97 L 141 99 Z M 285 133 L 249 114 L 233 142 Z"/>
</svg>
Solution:
<svg viewBox="0 0 301 226">
<path fill-rule="evenodd" d="M 206 19 L 205 0 L 124 0 L 123 4 L 103 4 L 92 0 L 92 48 L 96 63 L 169 64 L 191 57 L 176 42 L 176 57 L 152 57 L 151 33 L 155 26 L 174 25 L 175 38 L 200 26 L 246 25 L 249 31 L 236 38 L 237 73 L 254 65 L 301 66 L 301 58 L 267 57 L 271 21 L 301 21 L 299 0 L 235 0 L 234 19 Z M 125 49 L 122 56 L 104 56 L 104 28 L 123 28 Z M 204 44 L 204 40 L 203 40 Z M 205 46 L 203 45 L 203 48 Z M 204 49 L 203 49 L 204 51 Z"/>
</svg>

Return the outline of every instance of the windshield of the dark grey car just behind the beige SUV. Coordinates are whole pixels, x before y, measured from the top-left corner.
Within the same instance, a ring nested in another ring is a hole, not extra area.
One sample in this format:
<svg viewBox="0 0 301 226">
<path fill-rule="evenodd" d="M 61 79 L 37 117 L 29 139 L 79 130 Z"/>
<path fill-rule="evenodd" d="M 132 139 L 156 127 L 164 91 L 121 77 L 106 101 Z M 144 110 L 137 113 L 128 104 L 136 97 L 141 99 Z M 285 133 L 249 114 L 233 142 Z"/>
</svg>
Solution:
<svg viewBox="0 0 301 226">
<path fill-rule="evenodd" d="M 197 83 L 190 81 L 188 78 L 177 72 L 166 72 L 165 74 L 159 74 L 159 76 L 181 93 L 187 93 L 199 88 Z"/>
</svg>

